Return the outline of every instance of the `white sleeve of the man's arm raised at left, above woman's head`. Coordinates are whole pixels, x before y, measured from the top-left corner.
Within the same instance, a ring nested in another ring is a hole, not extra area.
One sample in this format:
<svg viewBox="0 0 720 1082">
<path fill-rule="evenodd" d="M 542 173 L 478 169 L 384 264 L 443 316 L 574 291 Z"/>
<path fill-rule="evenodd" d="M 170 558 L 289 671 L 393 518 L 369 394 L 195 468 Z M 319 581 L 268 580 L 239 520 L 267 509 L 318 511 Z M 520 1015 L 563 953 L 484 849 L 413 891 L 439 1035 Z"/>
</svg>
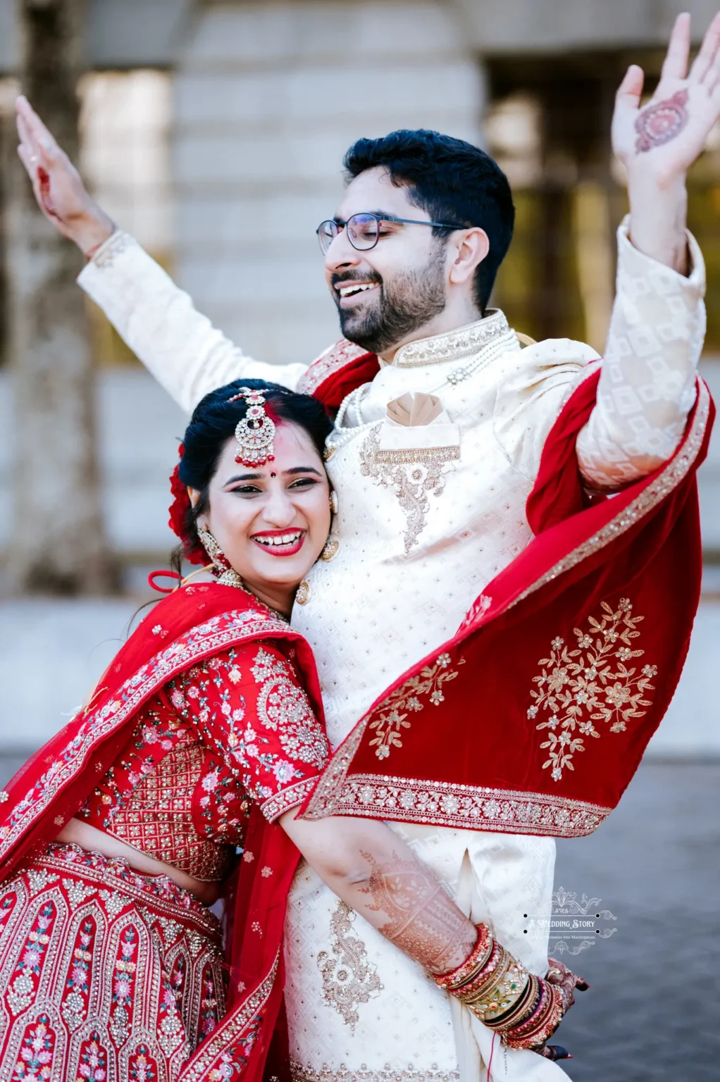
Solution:
<svg viewBox="0 0 720 1082">
<path fill-rule="evenodd" d="M 272 380 L 294 391 L 307 370 L 306 365 L 269 365 L 248 357 L 127 233 L 114 233 L 105 241 L 78 282 L 187 412 L 232 380 Z"/>
</svg>

